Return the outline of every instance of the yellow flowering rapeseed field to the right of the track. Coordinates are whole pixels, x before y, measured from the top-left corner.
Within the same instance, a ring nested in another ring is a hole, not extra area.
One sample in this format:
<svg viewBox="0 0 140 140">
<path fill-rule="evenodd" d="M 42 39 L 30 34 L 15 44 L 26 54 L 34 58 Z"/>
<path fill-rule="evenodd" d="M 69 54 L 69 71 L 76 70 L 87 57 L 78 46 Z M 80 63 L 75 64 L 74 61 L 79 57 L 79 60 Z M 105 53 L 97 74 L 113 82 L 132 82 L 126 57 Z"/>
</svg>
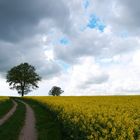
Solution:
<svg viewBox="0 0 140 140">
<path fill-rule="evenodd" d="M 140 140 L 140 96 L 29 98 L 58 119 L 65 140 Z"/>
</svg>

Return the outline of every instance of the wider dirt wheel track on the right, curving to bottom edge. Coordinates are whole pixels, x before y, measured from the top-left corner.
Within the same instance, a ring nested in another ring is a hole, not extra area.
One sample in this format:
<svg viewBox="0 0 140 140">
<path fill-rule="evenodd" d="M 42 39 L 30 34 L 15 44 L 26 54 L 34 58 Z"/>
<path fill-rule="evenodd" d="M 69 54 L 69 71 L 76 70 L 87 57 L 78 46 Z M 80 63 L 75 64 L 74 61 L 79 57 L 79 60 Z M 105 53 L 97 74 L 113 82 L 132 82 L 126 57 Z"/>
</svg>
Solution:
<svg viewBox="0 0 140 140">
<path fill-rule="evenodd" d="M 35 116 L 32 108 L 25 102 L 20 101 L 26 106 L 25 124 L 20 132 L 19 140 L 37 140 L 35 129 Z"/>
</svg>

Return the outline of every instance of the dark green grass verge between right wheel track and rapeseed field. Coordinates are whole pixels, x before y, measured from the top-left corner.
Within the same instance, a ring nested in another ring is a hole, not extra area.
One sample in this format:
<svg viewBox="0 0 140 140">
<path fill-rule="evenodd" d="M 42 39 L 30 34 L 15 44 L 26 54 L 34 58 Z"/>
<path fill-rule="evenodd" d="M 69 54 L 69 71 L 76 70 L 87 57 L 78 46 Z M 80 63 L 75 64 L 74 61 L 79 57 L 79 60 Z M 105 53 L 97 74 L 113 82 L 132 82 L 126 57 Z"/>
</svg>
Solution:
<svg viewBox="0 0 140 140">
<path fill-rule="evenodd" d="M 38 140 L 62 140 L 60 126 L 50 112 L 36 101 L 25 99 L 34 110 Z"/>
</svg>

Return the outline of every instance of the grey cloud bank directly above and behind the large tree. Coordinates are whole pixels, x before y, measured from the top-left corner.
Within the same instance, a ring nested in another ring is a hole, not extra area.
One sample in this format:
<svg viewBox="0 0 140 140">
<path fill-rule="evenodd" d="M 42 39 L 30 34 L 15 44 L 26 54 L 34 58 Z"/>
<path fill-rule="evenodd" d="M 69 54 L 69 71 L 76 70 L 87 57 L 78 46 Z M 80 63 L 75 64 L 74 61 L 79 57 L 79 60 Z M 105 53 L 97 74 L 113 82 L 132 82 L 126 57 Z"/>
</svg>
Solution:
<svg viewBox="0 0 140 140">
<path fill-rule="evenodd" d="M 55 61 L 46 60 L 44 49 L 37 39 L 17 44 L 0 42 L 0 74 L 3 77 L 13 66 L 24 62 L 35 66 L 43 79 L 52 78 L 61 73 L 61 68 Z"/>
</svg>

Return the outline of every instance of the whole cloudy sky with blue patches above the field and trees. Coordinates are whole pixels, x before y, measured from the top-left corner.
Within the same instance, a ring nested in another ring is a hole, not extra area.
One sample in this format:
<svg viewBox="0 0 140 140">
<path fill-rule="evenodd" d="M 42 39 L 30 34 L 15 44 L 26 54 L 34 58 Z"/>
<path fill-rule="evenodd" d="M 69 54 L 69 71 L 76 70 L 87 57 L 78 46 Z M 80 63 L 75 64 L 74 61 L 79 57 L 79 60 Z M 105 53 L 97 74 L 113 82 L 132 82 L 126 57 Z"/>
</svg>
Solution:
<svg viewBox="0 0 140 140">
<path fill-rule="evenodd" d="M 140 94 L 139 0 L 0 0 L 0 95 L 13 66 L 42 77 L 28 95 Z"/>
</svg>

